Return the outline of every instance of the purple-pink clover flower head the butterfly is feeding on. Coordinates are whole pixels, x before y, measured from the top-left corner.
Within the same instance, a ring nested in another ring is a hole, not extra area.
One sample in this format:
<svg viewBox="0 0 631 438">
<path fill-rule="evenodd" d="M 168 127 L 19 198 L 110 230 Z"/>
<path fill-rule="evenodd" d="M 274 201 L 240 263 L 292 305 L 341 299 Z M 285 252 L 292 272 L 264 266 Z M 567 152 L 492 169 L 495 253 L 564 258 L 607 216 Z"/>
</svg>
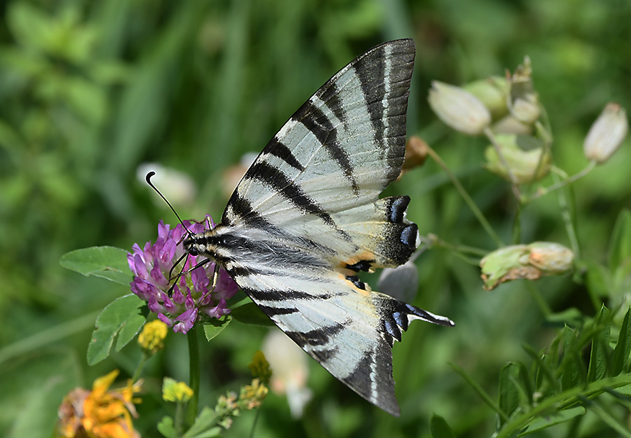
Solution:
<svg viewBox="0 0 631 438">
<path fill-rule="evenodd" d="M 142 248 L 135 243 L 133 252 L 127 254 L 129 268 L 134 274 L 134 280 L 130 282 L 132 292 L 147 301 L 149 310 L 157 313 L 159 320 L 179 333 L 189 331 L 197 320 L 229 314 L 226 301 L 238 290 L 223 268 L 219 269 L 213 287 L 215 263 L 194 268 L 204 260 L 203 256 L 186 256 L 184 274 L 170 278 L 172 266 L 184 255 L 182 242 L 186 229 L 203 233 L 215 226 L 210 217 L 203 222 L 184 221 L 184 225 L 186 228 L 182 224 L 171 228 L 160 221 L 156 242 L 147 242 Z"/>
</svg>

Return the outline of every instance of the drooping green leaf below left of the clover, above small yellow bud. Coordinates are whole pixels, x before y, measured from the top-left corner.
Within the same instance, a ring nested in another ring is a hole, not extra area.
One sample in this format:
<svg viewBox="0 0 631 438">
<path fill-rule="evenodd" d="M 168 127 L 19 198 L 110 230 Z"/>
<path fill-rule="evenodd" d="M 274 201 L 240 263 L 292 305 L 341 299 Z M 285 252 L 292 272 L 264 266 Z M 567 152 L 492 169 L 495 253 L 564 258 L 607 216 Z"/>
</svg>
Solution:
<svg viewBox="0 0 631 438">
<path fill-rule="evenodd" d="M 116 335 L 119 335 L 116 351 L 133 339 L 146 320 L 143 306 L 144 301 L 129 294 L 115 299 L 103 309 L 88 345 L 88 364 L 96 364 L 109 356 Z"/>
</svg>

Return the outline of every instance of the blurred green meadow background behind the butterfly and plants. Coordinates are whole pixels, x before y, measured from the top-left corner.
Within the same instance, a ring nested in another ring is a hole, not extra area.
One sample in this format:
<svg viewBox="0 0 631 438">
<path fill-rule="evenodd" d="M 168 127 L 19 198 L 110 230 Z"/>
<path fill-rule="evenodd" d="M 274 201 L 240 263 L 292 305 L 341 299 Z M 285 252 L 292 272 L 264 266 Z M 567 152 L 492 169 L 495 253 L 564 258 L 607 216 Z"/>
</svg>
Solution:
<svg viewBox="0 0 631 438">
<path fill-rule="evenodd" d="M 194 194 L 170 196 L 182 217 L 219 219 L 233 187 L 227 167 L 258 153 L 353 57 L 412 37 L 408 133 L 441 154 L 510 242 L 508 185 L 483 170 L 481 139 L 436 121 L 426 102 L 430 81 L 501 76 L 529 55 L 555 135 L 555 163 L 569 174 L 587 164 L 583 137 L 604 105 L 631 108 L 626 0 L 14 0 L 0 8 L 0 432 L 11 437 L 50 436 L 66 392 L 89 388 L 113 368 L 133 372 L 135 345 L 95 367 L 85 360 L 96 315 L 128 289 L 82 278 L 59 259 L 94 245 L 130 249 L 155 240 L 159 219 L 175 223 L 137 177 L 142 163 L 191 177 Z M 630 169 L 627 140 L 611 162 L 575 184 L 583 258 L 604 262 L 618 212 L 631 205 Z M 388 193 L 412 197 L 408 217 L 422 234 L 494 249 L 435 163 Z M 522 242 L 533 240 L 569 245 L 554 195 L 524 211 Z M 459 436 L 490 436 L 492 411 L 447 363 L 495 394 L 507 361 L 529 363 L 522 344 L 544 348 L 559 327 L 543 323 L 533 285 L 484 292 L 479 269 L 443 250 L 426 252 L 417 265 L 414 303 L 448 315 L 456 327 L 413 324 L 395 345 L 401 418 L 364 402 L 310 360 L 314 397 L 303 418 L 292 419 L 285 399 L 271 394 L 257 437 L 428 437 L 432 413 Z M 605 291 L 604 302 L 624 302 L 626 285 Z M 552 310 L 598 310 L 585 286 L 567 276 L 534 287 Z M 202 404 L 248 381 L 247 363 L 267 331 L 235 323 L 203 346 Z M 156 390 L 163 375 L 186 380 L 185 357 L 184 337 L 171 334 L 148 365 L 147 388 Z M 139 409 L 137 428 L 157 436 L 165 406 L 149 395 Z M 226 436 L 249 433 L 253 420 L 245 413 Z M 579 432 L 617 436 L 594 418 Z M 552 427 L 538 436 L 567 433 Z"/>
</svg>

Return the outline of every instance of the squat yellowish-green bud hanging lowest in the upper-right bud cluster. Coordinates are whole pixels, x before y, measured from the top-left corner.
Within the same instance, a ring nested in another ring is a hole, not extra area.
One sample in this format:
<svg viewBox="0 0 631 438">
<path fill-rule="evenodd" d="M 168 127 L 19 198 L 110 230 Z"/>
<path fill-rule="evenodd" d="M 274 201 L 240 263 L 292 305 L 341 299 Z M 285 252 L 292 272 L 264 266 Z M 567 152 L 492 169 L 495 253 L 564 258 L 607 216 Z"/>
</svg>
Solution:
<svg viewBox="0 0 631 438">
<path fill-rule="evenodd" d="M 543 148 L 540 140 L 529 135 L 514 134 L 498 134 L 495 139 L 517 183 L 538 181 L 550 172 L 550 151 Z M 494 146 L 487 146 L 484 158 L 487 160 L 484 163 L 487 170 L 511 182 L 508 169 Z"/>
</svg>

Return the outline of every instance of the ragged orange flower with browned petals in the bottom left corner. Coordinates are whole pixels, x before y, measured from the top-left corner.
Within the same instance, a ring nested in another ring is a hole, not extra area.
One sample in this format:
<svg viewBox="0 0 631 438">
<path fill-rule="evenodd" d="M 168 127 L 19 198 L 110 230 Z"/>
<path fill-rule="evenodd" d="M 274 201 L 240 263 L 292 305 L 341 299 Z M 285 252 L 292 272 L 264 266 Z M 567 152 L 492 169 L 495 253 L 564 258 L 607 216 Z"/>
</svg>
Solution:
<svg viewBox="0 0 631 438">
<path fill-rule="evenodd" d="M 76 388 L 64 397 L 59 407 L 59 432 L 64 438 L 139 438 L 132 417 L 137 413 L 133 398 L 140 384 L 128 381 L 124 388 L 109 390 L 118 370 L 94 381 L 92 391 Z"/>
</svg>

